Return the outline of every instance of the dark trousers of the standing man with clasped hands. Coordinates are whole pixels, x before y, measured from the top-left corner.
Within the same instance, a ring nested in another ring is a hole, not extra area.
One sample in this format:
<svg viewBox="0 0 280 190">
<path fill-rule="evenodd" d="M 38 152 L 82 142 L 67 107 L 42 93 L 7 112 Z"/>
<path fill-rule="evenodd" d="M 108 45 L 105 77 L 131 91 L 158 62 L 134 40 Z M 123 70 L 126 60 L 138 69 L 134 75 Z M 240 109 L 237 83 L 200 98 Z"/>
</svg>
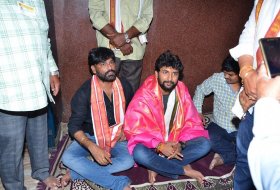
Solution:
<svg viewBox="0 0 280 190">
<path fill-rule="evenodd" d="M 116 58 L 118 76 L 125 78 L 131 85 L 133 92 L 139 88 L 143 68 L 143 60 L 120 60 Z"/>
</svg>

